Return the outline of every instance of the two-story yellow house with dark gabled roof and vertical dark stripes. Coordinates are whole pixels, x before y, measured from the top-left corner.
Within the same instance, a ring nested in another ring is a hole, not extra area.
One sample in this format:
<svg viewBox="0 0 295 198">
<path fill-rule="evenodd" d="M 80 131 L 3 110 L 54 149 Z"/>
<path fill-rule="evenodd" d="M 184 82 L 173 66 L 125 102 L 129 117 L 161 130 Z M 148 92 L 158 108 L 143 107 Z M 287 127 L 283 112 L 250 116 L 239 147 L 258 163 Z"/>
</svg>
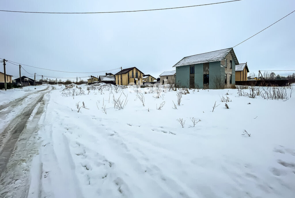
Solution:
<svg viewBox="0 0 295 198">
<path fill-rule="evenodd" d="M 130 67 L 119 71 L 115 74 L 116 84 L 121 85 L 121 73 L 122 73 L 122 85 L 142 85 L 142 73 L 136 67 Z"/>
</svg>

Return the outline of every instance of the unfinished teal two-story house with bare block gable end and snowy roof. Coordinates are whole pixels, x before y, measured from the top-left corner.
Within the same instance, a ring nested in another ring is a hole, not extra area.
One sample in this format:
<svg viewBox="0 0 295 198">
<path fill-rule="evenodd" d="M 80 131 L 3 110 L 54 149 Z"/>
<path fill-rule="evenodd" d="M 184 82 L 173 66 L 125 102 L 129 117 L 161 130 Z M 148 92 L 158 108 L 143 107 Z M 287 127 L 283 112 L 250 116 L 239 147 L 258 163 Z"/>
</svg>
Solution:
<svg viewBox="0 0 295 198">
<path fill-rule="evenodd" d="M 176 67 L 176 85 L 185 88 L 220 89 L 235 85 L 235 65 L 239 65 L 232 48 L 184 57 Z"/>
</svg>

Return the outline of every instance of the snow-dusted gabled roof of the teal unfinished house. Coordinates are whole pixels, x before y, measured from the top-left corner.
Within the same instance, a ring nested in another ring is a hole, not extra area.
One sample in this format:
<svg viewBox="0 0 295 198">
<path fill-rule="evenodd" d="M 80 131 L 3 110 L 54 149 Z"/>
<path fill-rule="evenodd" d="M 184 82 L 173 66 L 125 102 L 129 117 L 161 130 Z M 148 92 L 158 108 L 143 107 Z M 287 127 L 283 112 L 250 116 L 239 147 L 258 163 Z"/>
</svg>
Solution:
<svg viewBox="0 0 295 198">
<path fill-rule="evenodd" d="M 176 63 L 173 67 L 220 61 L 220 60 L 223 60 L 228 53 L 232 54 L 232 57 L 235 60 L 235 64 L 239 65 L 239 62 L 237 60 L 234 50 L 232 48 L 227 48 L 227 49 L 221 49 L 221 50 L 217 50 L 213 52 L 207 52 L 203 54 L 184 57 L 178 63 Z"/>
</svg>

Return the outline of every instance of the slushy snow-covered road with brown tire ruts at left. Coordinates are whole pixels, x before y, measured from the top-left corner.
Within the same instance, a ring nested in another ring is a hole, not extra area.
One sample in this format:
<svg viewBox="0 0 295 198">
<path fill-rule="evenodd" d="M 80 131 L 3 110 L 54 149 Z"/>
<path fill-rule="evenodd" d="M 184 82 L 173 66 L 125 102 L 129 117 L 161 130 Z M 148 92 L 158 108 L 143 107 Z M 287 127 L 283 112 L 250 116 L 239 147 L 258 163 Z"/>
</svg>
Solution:
<svg viewBox="0 0 295 198">
<path fill-rule="evenodd" d="M 1 197 L 27 197 L 30 162 L 38 150 L 35 145 L 38 122 L 52 89 L 25 94 L 0 106 Z"/>
</svg>

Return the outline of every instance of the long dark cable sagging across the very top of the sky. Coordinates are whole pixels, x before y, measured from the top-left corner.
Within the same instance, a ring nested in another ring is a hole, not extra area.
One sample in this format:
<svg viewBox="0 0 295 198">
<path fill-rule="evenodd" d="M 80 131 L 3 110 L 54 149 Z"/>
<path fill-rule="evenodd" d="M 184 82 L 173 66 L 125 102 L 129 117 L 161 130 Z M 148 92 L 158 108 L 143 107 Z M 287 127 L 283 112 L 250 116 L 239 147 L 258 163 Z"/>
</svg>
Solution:
<svg viewBox="0 0 295 198">
<path fill-rule="evenodd" d="M 147 9 L 147 10 L 131 10 L 131 11 L 110 11 L 110 12 L 30 12 L 30 11 L 12 11 L 12 10 L 0 10 L 2 12 L 21 12 L 21 13 L 38 13 L 38 14 L 104 14 L 104 13 L 122 13 L 122 12 L 142 12 L 142 11 L 155 11 L 155 10 L 168 10 L 168 9 L 178 9 L 178 8 L 190 8 L 190 7 L 197 7 L 197 6 L 208 6 L 214 4 L 223 4 L 229 3 L 234 1 L 242 1 L 242 0 L 233 0 L 233 1 L 223 1 L 211 4 L 201 4 L 201 5 L 194 5 L 194 6 L 181 6 L 181 7 L 172 7 L 172 8 L 159 8 L 159 9 Z"/>
</svg>

